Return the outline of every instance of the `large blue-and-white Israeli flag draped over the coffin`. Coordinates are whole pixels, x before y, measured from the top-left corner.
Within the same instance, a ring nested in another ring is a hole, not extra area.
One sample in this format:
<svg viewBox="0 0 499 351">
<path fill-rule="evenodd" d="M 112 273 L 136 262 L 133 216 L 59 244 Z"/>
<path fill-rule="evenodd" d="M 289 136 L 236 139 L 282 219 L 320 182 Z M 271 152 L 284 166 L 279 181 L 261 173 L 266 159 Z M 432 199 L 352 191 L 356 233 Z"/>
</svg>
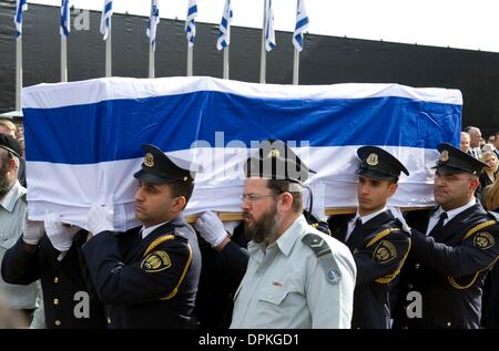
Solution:
<svg viewBox="0 0 499 351">
<path fill-rule="evenodd" d="M 114 225 L 125 230 L 138 225 L 133 174 L 144 143 L 203 166 L 185 215 L 241 211 L 243 165 L 266 138 L 287 142 L 317 172 L 306 182 L 315 208 L 357 206 L 363 145 L 384 147 L 410 172 L 390 206 L 432 205 L 437 145 L 459 145 L 462 96 L 398 84 L 106 78 L 26 87 L 22 103 L 30 218 L 54 211 L 86 227 L 92 204 L 114 195 Z"/>
</svg>

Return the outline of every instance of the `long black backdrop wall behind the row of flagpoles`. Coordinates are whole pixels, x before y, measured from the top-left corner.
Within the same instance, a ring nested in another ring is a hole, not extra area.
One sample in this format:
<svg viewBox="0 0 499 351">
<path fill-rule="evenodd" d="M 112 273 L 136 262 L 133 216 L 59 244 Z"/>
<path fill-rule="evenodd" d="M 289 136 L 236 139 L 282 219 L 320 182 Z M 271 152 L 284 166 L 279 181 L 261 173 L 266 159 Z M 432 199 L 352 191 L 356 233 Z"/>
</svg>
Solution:
<svg viewBox="0 0 499 351">
<path fill-rule="evenodd" d="M 0 112 L 14 109 L 14 2 L 0 1 Z M 77 12 L 72 11 L 72 21 Z M 71 28 L 70 81 L 104 75 L 100 12 L 90 11 L 90 30 Z M 147 76 L 146 18 L 113 16 L 113 75 Z M 194 74 L 222 76 L 223 54 L 215 48 L 217 25 L 197 23 Z M 258 82 L 261 30 L 232 27 L 231 79 Z M 276 32 L 267 53 L 267 82 L 291 84 L 292 33 Z M 24 86 L 60 79 L 59 8 L 29 4 L 23 23 Z M 157 29 L 156 76 L 185 75 L 184 21 L 162 19 Z M 499 131 L 499 54 L 482 51 L 399 44 L 307 34 L 301 55 L 301 84 L 399 83 L 416 87 L 458 89 L 464 95 L 462 124 L 485 136 Z"/>
</svg>

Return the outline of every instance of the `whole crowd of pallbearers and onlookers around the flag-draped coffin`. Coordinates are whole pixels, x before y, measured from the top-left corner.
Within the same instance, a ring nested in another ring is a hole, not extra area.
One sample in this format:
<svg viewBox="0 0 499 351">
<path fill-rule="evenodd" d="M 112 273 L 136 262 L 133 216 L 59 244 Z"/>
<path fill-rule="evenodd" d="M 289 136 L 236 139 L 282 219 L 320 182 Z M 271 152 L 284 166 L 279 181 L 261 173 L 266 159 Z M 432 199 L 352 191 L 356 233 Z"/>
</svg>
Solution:
<svg viewBox="0 0 499 351">
<path fill-rule="evenodd" d="M 17 313 L 0 326 L 21 316 L 51 329 L 499 327 L 499 133 L 483 143 L 468 127 L 460 149 L 441 143 L 437 206 L 408 214 L 388 207 L 406 166 L 359 147 L 358 207 L 327 223 L 304 208 L 314 171 L 264 141 L 245 163 L 243 220 L 206 210 L 191 226 L 182 210 L 202 167 L 145 144 L 133 175 L 142 225 L 125 233 L 113 198 L 90 208 L 89 230 L 59 214 L 28 219 L 19 138 L 0 123 L 0 295 Z"/>
</svg>

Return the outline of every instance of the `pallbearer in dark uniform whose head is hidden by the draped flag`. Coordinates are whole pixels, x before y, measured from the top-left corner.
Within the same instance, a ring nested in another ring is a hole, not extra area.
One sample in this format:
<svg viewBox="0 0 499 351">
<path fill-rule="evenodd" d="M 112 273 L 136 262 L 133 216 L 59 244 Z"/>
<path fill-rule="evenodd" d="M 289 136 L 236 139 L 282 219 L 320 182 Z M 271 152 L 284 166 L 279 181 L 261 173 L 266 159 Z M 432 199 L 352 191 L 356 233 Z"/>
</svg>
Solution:
<svg viewBox="0 0 499 351">
<path fill-rule="evenodd" d="M 80 249 L 88 231 L 61 223 L 59 228 L 58 233 L 53 226 L 44 229 L 43 221 L 27 220 L 23 235 L 3 257 L 2 278 L 18 285 L 41 280 L 49 329 L 105 328 L 104 307 L 88 290 L 82 272 Z"/>
</svg>

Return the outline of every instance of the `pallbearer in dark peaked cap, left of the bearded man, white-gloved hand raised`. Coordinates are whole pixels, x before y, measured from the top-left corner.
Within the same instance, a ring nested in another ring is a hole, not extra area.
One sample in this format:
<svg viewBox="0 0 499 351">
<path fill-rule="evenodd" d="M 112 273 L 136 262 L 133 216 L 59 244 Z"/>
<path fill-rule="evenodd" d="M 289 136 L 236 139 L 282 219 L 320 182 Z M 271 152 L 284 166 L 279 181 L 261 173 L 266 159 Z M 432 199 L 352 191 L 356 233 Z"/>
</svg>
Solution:
<svg viewBox="0 0 499 351">
<path fill-rule="evenodd" d="M 83 254 L 104 302 L 110 328 L 195 328 L 201 256 L 194 230 L 181 217 L 194 189 L 194 164 L 146 152 L 135 194 L 143 226 L 115 234 L 112 204 L 92 206 L 93 237 Z"/>
</svg>

